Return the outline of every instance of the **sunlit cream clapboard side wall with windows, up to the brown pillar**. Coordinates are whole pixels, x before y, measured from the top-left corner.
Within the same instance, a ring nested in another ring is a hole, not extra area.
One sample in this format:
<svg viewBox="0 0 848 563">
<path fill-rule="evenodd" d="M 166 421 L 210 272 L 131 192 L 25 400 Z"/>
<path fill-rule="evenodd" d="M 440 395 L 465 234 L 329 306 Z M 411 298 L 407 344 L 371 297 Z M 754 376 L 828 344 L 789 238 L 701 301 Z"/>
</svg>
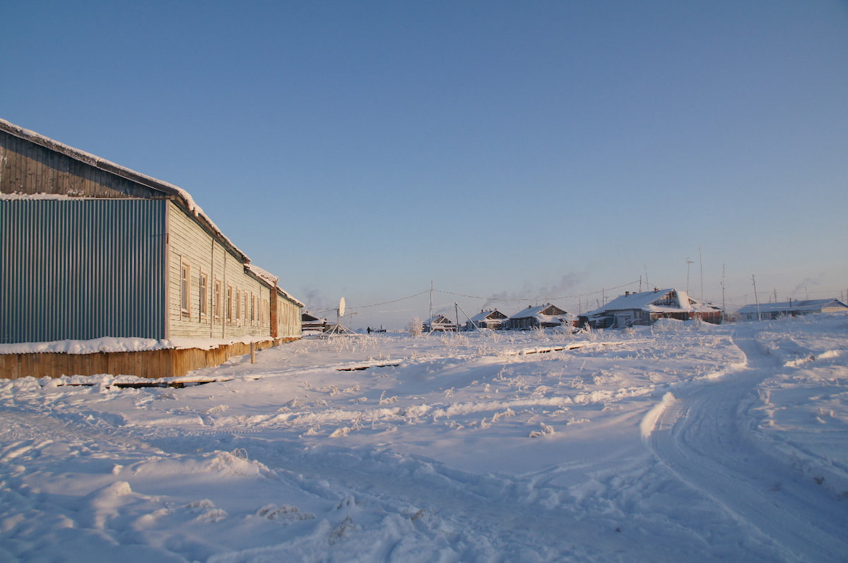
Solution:
<svg viewBox="0 0 848 563">
<path fill-rule="evenodd" d="M 168 337 L 271 337 L 271 287 L 176 203 L 168 223 Z"/>
</svg>

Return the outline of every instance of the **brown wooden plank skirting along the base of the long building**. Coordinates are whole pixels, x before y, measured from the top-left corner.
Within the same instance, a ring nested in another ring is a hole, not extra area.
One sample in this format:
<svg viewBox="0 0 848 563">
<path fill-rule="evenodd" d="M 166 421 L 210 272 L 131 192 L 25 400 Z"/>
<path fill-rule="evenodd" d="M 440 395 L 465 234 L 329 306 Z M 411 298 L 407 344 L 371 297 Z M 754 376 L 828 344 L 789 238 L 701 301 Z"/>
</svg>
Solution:
<svg viewBox="0 0 848 563">
<path fill-rule="evenodd" d="M 298 340 L 275 338 L 255 343 L 256 350 Z M 96 354 L 0 354 L 0 377 L 111 376 L 180 377 L 189 371 L 223 364 L 232 356 L 250 354 L 250 344 L 232 343 L 204 350 L 166 348 L 143 352 L 98 352 Z"/>
</svg>

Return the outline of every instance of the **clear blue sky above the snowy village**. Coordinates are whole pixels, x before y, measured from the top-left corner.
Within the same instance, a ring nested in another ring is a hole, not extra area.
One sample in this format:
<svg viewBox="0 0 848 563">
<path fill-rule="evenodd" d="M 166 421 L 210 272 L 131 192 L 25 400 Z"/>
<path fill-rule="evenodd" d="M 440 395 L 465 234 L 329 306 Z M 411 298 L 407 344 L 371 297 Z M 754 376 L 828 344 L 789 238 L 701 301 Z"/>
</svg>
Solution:
<svg viewBox="0 0 848 563">
<path fill-rule="evenodd" d="M 844 1 L 19 2 L 0 48 L 0 117 L 352 326 L 848 291 Z"/>
</svg>

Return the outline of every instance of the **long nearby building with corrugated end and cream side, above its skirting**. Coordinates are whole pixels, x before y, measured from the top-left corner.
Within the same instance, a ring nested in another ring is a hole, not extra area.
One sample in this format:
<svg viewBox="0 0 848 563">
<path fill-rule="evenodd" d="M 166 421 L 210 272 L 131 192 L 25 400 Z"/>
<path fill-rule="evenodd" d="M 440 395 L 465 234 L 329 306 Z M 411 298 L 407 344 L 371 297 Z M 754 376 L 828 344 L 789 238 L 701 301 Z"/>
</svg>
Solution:
<svg viewBox="0 0 848 563">
<path fill-rule="evenodd" d="M 0 344 L 300 336 L 304 305 L 187 192 L 5 120 L 0 226 Z M 175 375 L 142 364 L 120 373 Z"/>
</svg>

